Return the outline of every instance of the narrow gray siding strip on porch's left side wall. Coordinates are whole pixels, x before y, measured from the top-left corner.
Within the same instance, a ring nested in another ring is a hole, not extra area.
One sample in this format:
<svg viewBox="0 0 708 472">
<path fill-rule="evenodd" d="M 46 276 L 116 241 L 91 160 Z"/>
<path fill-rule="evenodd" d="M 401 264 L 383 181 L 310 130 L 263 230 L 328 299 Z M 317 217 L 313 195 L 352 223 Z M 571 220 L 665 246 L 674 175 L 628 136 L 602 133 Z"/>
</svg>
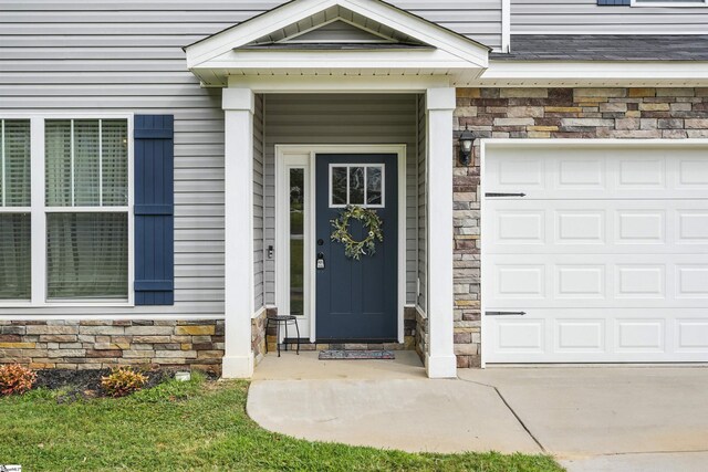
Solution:
<svg viewBox="0 0 708 472">
<path fill-rule="evenodd" d="M 263 96 L 253 114 L 253 307 L 263 306 Z"/>
</svg>

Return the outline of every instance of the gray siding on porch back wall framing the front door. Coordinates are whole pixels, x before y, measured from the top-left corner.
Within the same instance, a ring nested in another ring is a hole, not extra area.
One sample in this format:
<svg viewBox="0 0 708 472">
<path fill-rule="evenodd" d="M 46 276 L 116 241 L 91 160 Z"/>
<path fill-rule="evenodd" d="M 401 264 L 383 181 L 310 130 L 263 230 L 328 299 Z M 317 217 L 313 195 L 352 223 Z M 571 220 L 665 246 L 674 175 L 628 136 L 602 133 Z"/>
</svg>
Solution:
<svg viewBox="0 0 708 472">
<path fill-rule="evenodd" d="M 277 144 L 405 144 L 406 303 L 416 301 L 417 98 L 407 94 L 266 95 L 266 245 L 275 244 Z M 266 303 L 275 303 L 275 258 L 266 261 Z"/>
</svg>

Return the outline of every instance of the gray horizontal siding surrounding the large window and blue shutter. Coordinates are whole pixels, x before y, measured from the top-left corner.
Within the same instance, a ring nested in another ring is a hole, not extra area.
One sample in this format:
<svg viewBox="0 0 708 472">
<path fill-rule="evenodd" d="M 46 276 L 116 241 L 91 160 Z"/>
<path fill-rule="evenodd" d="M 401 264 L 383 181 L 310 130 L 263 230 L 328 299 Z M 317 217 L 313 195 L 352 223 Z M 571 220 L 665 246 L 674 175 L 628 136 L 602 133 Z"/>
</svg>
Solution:
<svg viewBox="0 0 708 472">
<path fill-rule="evenodd" d="M 0 4 L 0 115 L 175 115 L 175 305 L 0 314 L 223 316 L 221 91 L 199 86 L 180 48 L 252 14 L 226 8 L 238 3 L 205 3 L 215 11 L 197 15 L 187 11 L 196 2 L 171 0 Z M 137 11 L 149 8 L 174 11 Z"/>
</svg>

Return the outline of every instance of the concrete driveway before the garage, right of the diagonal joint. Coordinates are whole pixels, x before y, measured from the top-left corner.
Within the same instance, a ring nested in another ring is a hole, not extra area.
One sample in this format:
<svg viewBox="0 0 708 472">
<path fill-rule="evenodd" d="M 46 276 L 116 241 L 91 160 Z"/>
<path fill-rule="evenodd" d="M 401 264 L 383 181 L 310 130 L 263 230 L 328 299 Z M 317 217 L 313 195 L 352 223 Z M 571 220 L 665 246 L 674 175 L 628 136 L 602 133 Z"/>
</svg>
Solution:
<svg viewBox="0 0 708 472">
<path fill-rule="evenodd" d="M 708 470 L 708 369 L 490 368 L 529 433 L 571 471 Z"/>
</svg>

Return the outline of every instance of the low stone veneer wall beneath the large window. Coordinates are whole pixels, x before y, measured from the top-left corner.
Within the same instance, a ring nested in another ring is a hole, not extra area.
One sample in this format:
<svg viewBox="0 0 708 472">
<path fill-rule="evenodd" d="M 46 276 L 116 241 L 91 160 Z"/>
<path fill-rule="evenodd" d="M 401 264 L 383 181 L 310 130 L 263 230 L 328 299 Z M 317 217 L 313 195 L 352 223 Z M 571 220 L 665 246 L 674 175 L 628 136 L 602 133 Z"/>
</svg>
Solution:
<svg viewBox="0 0 708 472">
<path fill-rule="evenodd" d="M 160 365 L 219 374 L 223 321 L 0 321 L 0 364 L 34 369 Z"/>
</svg>

